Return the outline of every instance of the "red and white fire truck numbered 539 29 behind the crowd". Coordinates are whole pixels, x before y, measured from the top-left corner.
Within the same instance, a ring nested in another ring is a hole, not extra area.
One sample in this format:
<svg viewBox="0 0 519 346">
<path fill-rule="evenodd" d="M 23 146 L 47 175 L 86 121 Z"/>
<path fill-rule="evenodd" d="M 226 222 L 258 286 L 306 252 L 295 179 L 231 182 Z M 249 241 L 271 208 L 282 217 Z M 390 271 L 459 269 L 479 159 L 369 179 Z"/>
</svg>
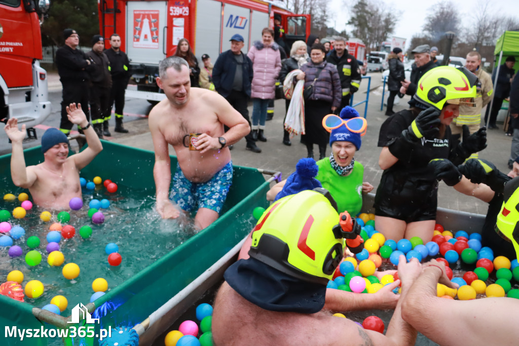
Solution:
<svg viewBox="0 0 519 346">
<path fill-rule="evenodd" d="M 2 1 L 2 0 L 0 0 Z M 290 48 L 310 34 L 310 15 L 296 15 L 280 1 L 270 0 L 99 0 L 99 29 L 108 39 L 121 37 L 121 49 L 130 59 L 132 80 L 127 97 L 160 101 L 165 96 L 155 83 L 159 62 L 176 51 L 181 38 L 189 41 L 199 63 L 202 54 L 213 62 L 230 49 L 234 34 L 244 38 L 243 52 L 261 39 L 265 27 L 274 28 L 281 15 L 283 39 Z M 106 48 L 110 44 L 106 43 Z"/>
</svg>

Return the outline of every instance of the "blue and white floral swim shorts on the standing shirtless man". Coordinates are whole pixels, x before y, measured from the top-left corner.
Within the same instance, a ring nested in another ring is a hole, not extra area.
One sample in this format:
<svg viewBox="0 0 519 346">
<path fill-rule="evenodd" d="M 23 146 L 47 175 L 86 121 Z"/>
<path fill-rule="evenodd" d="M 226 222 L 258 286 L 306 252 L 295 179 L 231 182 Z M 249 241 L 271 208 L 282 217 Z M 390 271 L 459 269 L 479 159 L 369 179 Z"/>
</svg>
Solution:
<svg viewBox="0 0 519 346">
<path fill-rule="evenodd" d="M 232 161 L 204 183 L 189 181 L 177 163 L 169 199 L 172 199 L 185 211 L 190 212 L 199 208 L 208 208 L 220 214 L 232 183 Z M 197 206 L 198 208 L 195 209 Z"/>
</svg>

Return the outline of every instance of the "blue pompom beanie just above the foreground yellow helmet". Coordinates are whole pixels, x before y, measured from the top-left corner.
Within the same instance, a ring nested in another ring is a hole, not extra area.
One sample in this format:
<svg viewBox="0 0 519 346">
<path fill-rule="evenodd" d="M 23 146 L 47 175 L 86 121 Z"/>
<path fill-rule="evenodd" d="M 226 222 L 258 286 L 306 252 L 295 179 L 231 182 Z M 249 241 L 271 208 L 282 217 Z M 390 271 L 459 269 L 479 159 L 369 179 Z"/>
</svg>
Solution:
<svg viewBox="0 0 519 346">
<path fill-rule="evenodd" d="M 319 180 L 315 178 L 318 171 L 319 167 L 317 167 L 316 161 L 313 158 L 305 157 L 300 159 L 297 165 L 295 165 L 295 172 L 286 179 L 283 190 L 276 195 L 274 201 L 301 191 L 322 188 Z"/>
</svg>

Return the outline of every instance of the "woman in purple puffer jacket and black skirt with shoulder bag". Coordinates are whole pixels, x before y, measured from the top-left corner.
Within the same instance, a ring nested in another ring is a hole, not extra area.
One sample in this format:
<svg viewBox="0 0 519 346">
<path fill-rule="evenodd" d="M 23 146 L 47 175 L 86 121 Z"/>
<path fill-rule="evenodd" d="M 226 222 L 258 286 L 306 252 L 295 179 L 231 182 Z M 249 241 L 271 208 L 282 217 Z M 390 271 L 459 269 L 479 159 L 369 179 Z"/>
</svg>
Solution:
<svg viewBox="0 0 519 346">
<path fill-rule="evenodd" d="M 301 66 L 296 79 L 305 79 L 305 135 L 304 143 L 308 156 L 313 158 L 313 144 L 319 145 L 319 159 L 326 157 L 326 145 L 330 134 L 322 126 L 326 114 L 335 112 L 340 105 L 342 89 L 340 77 L 334 64 L 324 58 L 326 49 L 321 43 L 312 45 L 308 63 Z"/>
</svg>

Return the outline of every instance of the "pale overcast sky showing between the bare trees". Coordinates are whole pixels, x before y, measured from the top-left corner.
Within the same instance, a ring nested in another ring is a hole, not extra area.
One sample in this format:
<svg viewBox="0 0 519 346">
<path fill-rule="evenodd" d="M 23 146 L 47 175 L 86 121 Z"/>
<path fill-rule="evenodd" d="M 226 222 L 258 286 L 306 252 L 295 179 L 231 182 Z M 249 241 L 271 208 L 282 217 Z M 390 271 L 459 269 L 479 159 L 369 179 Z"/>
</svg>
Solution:
<svg viewBox="0 0 519 346">
<path fill-rule="evenodd" d="M 380 1 L 380 0 L 374 0 Z M 402 11 L 402 16 L 400 20 L 397 22 L 397 28 L 394 32 L 394 36 L 407 38 L 407 46 L 411 41 L 411 37 L 415 33 L 419 33 L 421 31 L 422 26 L 424 25 L 424 19 L 428 15 L 428 8 L 433 6 L 436 3 L 439 3 L 439 0 L 433 1 L 409 1 L 409 0 L 381 0 L 385 1 L 386 4 L 392 4 L 394 8 Z M 458 11 L 462 15 L 462 24 L 463 26 L 469 25 L 471 10 L 474 9 L 474 6 L 477 6 L 478 1 L 481 0 L 456 0 L 453 3 L 456 4 Z M 356 0 L 330 0 L 330 13 L 331 18 L 329 21 L 329 26 L 335 26 L 337 31 L 343 31 L 346 29 L 346 22 L 350 18 L 350 11 L 347 6 L 344 4 L 352 4 L 356 3 Z M 409 4 L 412 4 L 410 6 Z M 491 2 L 492 11 L 496 12 L 504 12 L 506 11 L 510 16 L 519 17 L 519 1 L 518 0 L 492 0 Z"/>
</svg>

